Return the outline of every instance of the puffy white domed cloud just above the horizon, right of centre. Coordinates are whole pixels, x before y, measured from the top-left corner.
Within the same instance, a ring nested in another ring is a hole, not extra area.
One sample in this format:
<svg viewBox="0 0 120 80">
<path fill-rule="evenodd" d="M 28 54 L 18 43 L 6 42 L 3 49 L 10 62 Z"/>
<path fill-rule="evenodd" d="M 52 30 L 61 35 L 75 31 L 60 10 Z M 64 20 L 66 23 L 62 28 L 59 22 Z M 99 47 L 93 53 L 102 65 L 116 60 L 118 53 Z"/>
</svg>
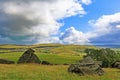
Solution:
<svg viewBox="0 0 120 80">
<path fill-rule="evenodd" d="M 87 44 L 89 42 L 86 34 L 77 31 L 74 27 L 66 29 L 66 31 L 61 34 L 60 39 L 63 43 L 67 44 Z"/>
</svg>

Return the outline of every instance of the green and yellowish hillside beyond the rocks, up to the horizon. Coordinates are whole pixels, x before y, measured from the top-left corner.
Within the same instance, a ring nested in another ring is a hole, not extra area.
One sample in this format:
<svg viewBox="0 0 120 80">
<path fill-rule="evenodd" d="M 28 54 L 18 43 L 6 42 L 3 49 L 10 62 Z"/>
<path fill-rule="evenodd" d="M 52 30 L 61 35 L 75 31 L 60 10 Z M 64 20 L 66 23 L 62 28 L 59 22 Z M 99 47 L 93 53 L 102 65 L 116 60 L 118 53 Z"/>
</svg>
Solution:
<svg viewBox="0 0 120 80">
<path fill-rule="evenodd" d="M 40 60 L 46 60 L 52 64 L 71 64 L 85 55 L 84 49 L 95 47 L 62 44 L 0 45 L 0 58 L 17 62 L 28 48 L 34 49 Z"/>
</svg>

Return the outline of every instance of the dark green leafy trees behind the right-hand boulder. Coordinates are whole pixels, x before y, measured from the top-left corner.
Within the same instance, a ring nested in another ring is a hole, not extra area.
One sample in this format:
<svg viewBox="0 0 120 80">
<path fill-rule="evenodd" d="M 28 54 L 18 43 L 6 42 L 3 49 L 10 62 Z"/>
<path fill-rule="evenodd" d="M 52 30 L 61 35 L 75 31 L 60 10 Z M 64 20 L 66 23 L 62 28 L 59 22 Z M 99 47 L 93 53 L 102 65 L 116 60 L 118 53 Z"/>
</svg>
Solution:
<svg viewBox="0 0 120 80">
<path fill-rule="evenodd" d="M 94 60 L 102 61 L 102 67 L 112 67 L 116 61 L 120 61 L 120 52 L 111 50 L 110 48 L 103 49 L 85 49 L 86 56 L 91 56 Z"/>
</svg>

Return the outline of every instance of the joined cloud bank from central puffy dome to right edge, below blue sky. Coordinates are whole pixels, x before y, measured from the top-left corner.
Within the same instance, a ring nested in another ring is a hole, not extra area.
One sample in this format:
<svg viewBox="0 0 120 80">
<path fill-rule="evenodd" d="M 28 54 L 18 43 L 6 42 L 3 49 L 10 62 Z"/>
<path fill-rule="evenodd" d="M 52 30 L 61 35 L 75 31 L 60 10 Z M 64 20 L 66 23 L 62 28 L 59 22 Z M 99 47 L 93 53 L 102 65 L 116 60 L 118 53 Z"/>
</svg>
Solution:
<svg viewBox="0 0 120 80">
<path fill-rule="evenodd" d="M 60 39 L 70 44 L 120 44 L 120 13 L 103 15 L 90 20 L 92 31 L 77 31 L 74 27 L 66 29 Z"/>
</svg>

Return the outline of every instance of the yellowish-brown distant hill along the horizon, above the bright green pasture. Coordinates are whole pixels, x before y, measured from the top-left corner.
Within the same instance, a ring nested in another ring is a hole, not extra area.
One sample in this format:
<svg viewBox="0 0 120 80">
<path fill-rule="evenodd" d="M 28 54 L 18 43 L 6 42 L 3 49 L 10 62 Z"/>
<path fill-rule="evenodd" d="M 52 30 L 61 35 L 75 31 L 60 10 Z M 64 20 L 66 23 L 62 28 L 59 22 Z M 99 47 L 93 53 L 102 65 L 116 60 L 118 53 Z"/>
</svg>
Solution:
<svg viewBox="0 0 120 80">
<path fill-rule="evenodd" d="M 0 45 L 0 50 L 10 50 L 10 51 L 24 51 L 27 48 L 33 48 L 37 52 L 41 53 L 82 53 L 86 48 L 95 48 L 94 46 L 85 46 L 85 45 L 64 45 L 64 44 L 36 44 L 36 45 L 11 45 L 5 44 Z"/>
</svg>

